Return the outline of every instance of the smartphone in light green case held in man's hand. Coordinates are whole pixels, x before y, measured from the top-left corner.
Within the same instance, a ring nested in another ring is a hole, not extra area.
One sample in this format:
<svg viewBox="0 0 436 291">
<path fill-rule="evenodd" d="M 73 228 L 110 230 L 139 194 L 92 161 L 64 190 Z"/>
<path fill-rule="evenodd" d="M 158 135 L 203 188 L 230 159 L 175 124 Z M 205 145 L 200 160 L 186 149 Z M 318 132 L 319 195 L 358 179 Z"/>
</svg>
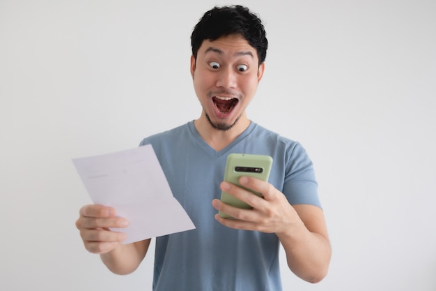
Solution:
<svg viewBox="0 0 436 291">
<path fill-rule="evenodd" d="M 272 158 L 270 156 L 254 154 L 229 154 L 226 161 L 224 181 L 228 181 L 238 186 L 240 186 L 239 178 L 241 176 L 255 177 L 263 181 L 268 181 L 268 177 L 270 177 L 271 166 Z M 256 191 L 252 191 L 251 189 L 247 190 L 262 197 L 262 195 Z M 234 207 L 251 209 L 249 204 L 242 202 L 241 200 L 224 191 L 221 192 L 221 201 Z M 221 211 L 219 211 L 219 216 L 231 218 L 231 216 Z"/>
</svg>

